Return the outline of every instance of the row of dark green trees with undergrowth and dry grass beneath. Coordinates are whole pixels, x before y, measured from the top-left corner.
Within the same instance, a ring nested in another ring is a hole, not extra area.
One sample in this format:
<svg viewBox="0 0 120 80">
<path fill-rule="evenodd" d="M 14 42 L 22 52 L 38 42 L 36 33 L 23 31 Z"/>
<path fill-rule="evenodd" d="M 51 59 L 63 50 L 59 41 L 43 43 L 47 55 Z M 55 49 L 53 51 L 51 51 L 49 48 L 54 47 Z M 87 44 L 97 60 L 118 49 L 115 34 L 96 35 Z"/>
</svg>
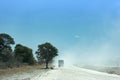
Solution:
<svg viewBox="0 0 120 80">
<path fill-rule="evenodd" d="M 12 45 L 15 45 L 14 49 L 12 49 Z M 37 60 L 33 55 L 36 55 Z M 38 44 L 38 49 L 34 54 L 32 48 L 20 43 L 15 44 L 14 38 L 9 34 L 0 34 L 0 74 L 10 69 L 19 71 L 23 67 L 35 68 L 35 66 L 43 67 L 45 65 L 44 67 L 48 69 L 48 64 L 56 56 L 58 56 L 58 50 L 51 43 Z"/>
</svg>

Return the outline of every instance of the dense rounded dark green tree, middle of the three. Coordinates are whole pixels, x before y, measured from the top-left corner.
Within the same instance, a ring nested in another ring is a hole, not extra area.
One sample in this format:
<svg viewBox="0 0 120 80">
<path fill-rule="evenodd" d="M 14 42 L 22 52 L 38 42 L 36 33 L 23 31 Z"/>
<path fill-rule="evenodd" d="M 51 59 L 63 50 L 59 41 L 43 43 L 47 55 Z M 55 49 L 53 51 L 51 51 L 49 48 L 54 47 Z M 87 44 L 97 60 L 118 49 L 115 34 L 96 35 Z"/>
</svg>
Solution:
<svg viewBox="0 0 120 80">
<path fill-rule="evenodd" d="M 35 63 L 35 59 L 32 54 L 32 49 L 21 44 L 17 44 L 15 46 L 14 55 L 16 60 L 20 63 L 28 63 L 29 65 Z"/>
</svg>

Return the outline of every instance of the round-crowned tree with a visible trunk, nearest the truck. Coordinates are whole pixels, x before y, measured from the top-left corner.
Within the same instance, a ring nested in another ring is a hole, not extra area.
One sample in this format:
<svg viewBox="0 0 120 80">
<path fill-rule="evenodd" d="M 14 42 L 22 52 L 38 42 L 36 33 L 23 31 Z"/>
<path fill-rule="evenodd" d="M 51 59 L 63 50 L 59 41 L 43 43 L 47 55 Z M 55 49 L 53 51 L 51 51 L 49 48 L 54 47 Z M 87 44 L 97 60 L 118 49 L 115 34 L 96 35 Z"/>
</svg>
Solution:
<svg viewBox="0 0 120 80">
<path fill-rule="evenodd" d="M 38 61 L 41 59 L 45 60 L 46 68 L 48 68 L 48 63 L 52 61 L 55 56 L 58 56 L 57 53 L 57 48 L 48 42 L 38 45 L 38 50 L 36 51 Z"/>
</svg>

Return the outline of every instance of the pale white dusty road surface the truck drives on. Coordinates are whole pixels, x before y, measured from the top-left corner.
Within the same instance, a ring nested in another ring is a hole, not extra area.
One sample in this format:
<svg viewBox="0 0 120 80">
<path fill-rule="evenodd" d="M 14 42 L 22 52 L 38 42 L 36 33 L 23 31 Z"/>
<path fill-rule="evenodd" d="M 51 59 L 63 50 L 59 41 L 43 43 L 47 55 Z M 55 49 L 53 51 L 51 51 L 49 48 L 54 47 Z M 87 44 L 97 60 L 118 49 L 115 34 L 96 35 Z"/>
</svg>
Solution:
<svg viewBox="0 0 120 80">
<path fill-rule="evenodd" d="M 120 76 L 71 66 L 48 71 L 33 80 L 120 80 Z"/>
</svg>

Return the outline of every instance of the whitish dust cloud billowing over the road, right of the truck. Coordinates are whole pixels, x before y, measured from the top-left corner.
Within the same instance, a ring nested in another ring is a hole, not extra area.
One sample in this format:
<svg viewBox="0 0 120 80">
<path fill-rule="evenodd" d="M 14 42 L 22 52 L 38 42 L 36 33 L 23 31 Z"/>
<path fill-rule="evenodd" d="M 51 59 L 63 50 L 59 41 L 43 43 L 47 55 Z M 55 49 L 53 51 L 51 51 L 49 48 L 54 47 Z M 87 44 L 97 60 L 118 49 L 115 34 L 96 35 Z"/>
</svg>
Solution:
<svg viewBox="0 0 120 80">
<path fill-rule="evenodd" d="M 65 51 L 59 59 L 65 65 L 119 66 L 120 65 L 120 27 L 118 24 L 106 30 L 107 39 L 94 40 L 93 44 L 79 41 Z M 78 38 L 78 36 L 77 36 Z"/>
</svg>

